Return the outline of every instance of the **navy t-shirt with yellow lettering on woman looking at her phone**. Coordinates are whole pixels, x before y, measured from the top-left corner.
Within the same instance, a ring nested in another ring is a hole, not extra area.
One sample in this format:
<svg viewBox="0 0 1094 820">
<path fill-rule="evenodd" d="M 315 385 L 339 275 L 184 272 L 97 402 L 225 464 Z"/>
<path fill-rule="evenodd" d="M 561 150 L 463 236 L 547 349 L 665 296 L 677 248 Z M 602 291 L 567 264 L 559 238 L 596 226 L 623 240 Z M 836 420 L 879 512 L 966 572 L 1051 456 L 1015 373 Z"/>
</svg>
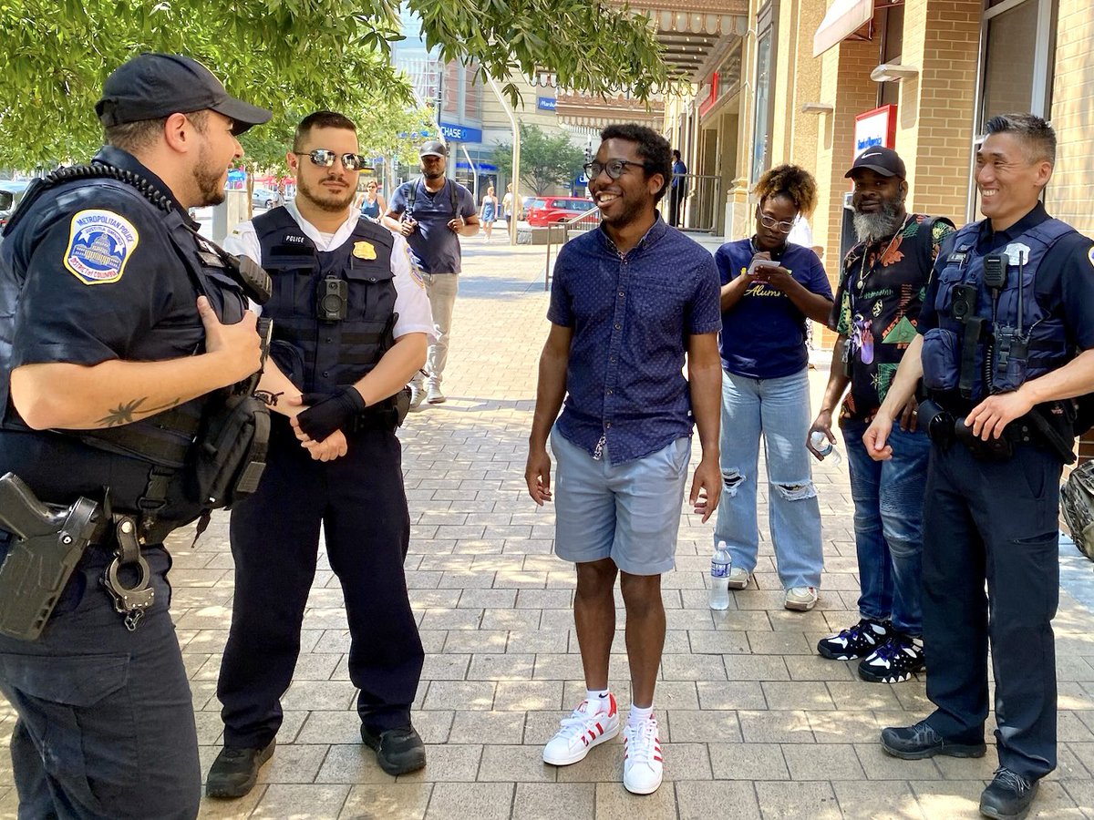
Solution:
<svg viewBox="0 0 1094 820">
<path fill-rule="evenodd" d="M 714 251 L 714 263 L 723 285 L 748 270 L 756 251 L 752 239 L 728 242 Z M 776 259 L 776 254 L 771 258 Z M 805 290 L 831 298 L 824 266 L 811 248 L 787 244 L 776 261 L 790 271 Z M 790 296 L 766 282 L 756 281 L 741 301 L 722 314 L 722 367 L 745 378 L 781 378 L 804 370 L 805 314 Z"/>
</svg>

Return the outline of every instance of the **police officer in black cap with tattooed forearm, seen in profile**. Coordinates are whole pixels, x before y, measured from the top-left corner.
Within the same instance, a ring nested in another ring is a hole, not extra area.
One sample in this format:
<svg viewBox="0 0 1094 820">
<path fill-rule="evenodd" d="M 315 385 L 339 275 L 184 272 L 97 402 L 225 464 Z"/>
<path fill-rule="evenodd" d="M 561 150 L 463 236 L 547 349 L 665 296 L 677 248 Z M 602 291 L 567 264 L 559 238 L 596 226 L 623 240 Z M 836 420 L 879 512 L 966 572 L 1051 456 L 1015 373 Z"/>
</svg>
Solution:
<svg viewBox="0 0 1094 820">
<path fill-rule="evenodd" d="M 270 114 L 161 54 L 110 74 L 96 112 L 106 147 L 30 190 L 0 243 L 0 472 L 28 488 L 5 477 L 0 496 L 16 530 L 0 534 L 0 692 L 19 716 L 20 817 L 193 818 L 197 735 L 162 541 L 200 513 L 190 442 L 258 370 L 260 340 L 231 259 L 187 209 L 221 201 L 237 134 Z M 82 558 L 60 562 L 67 583 L 24 629 L 20 602 L 54 577 L 16 575 L 59 546 Z"/>
</svg>

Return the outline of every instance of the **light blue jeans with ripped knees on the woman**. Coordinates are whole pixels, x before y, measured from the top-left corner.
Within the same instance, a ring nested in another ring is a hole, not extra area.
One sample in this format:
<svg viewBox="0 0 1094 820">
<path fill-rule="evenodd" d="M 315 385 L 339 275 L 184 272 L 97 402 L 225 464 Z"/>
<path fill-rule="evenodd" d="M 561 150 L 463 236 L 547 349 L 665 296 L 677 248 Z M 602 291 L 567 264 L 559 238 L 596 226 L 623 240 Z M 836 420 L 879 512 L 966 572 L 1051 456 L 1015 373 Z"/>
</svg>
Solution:
<svg viewBox="0 0 1094 820">
<path fill-rule="evenodd" d="M 781 378 L 722 372 L 722 500 L 714 543 L 725 541 L 733 566 L 753 572 L 759 552 L 756 517 L 760 436 L 767 464 L 771 540 L 784 589 L 821 586 L 821 508 L 805 434 L 808 371 Z"/>
</svg>

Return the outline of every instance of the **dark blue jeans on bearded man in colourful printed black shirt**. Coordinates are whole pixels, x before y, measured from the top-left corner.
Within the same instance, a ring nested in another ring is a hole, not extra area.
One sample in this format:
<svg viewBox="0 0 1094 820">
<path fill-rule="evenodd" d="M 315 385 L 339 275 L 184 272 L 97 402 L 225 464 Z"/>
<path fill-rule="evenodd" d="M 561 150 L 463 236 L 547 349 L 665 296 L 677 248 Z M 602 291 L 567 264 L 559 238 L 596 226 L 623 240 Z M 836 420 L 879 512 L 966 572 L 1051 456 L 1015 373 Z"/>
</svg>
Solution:
<svg viewBox="0 0 1094 820">
<path fill-rule="evenodd" d="M 854 501 L 854 546 L 859 554 L 859 614 L 892 620 L 906 635 L 923 632 L 923 490 L 931 442 L 924 431 L 893 425 L 893 458 L 874 461 L 862 443 L 869 424 L 842 421 L 847 466 Z"/>
</svg>

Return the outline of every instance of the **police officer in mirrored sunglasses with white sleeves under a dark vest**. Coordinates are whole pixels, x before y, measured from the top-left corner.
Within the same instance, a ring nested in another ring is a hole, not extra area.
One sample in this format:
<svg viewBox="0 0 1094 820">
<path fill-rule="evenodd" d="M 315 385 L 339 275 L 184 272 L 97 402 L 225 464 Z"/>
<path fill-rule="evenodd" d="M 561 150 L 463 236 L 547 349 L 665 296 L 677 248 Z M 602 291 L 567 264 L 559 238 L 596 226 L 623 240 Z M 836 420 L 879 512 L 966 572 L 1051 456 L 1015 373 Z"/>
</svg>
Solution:
<svg viewBox="0 0 1094 820">
<path fill-rule="evenodd" d="M 395 430 L 433 326 L 406 241 L 352 208 L 357 152 L 351 120 L 305 117 L 287 156 L 296 198 L 225 242 L 274 280 L 264 316 L 274 319 L 276 366 L 259 387 L 276 412 L 266 475 L 232 511 L 235 598 L 212 797 L 247 794 L 274 753 L 321 525 L 346 600 L 361 739 L 388 774 L 426 765 L 410 723 L 423 653 L 403 573 L 410 519 Z"/>
</svg>

